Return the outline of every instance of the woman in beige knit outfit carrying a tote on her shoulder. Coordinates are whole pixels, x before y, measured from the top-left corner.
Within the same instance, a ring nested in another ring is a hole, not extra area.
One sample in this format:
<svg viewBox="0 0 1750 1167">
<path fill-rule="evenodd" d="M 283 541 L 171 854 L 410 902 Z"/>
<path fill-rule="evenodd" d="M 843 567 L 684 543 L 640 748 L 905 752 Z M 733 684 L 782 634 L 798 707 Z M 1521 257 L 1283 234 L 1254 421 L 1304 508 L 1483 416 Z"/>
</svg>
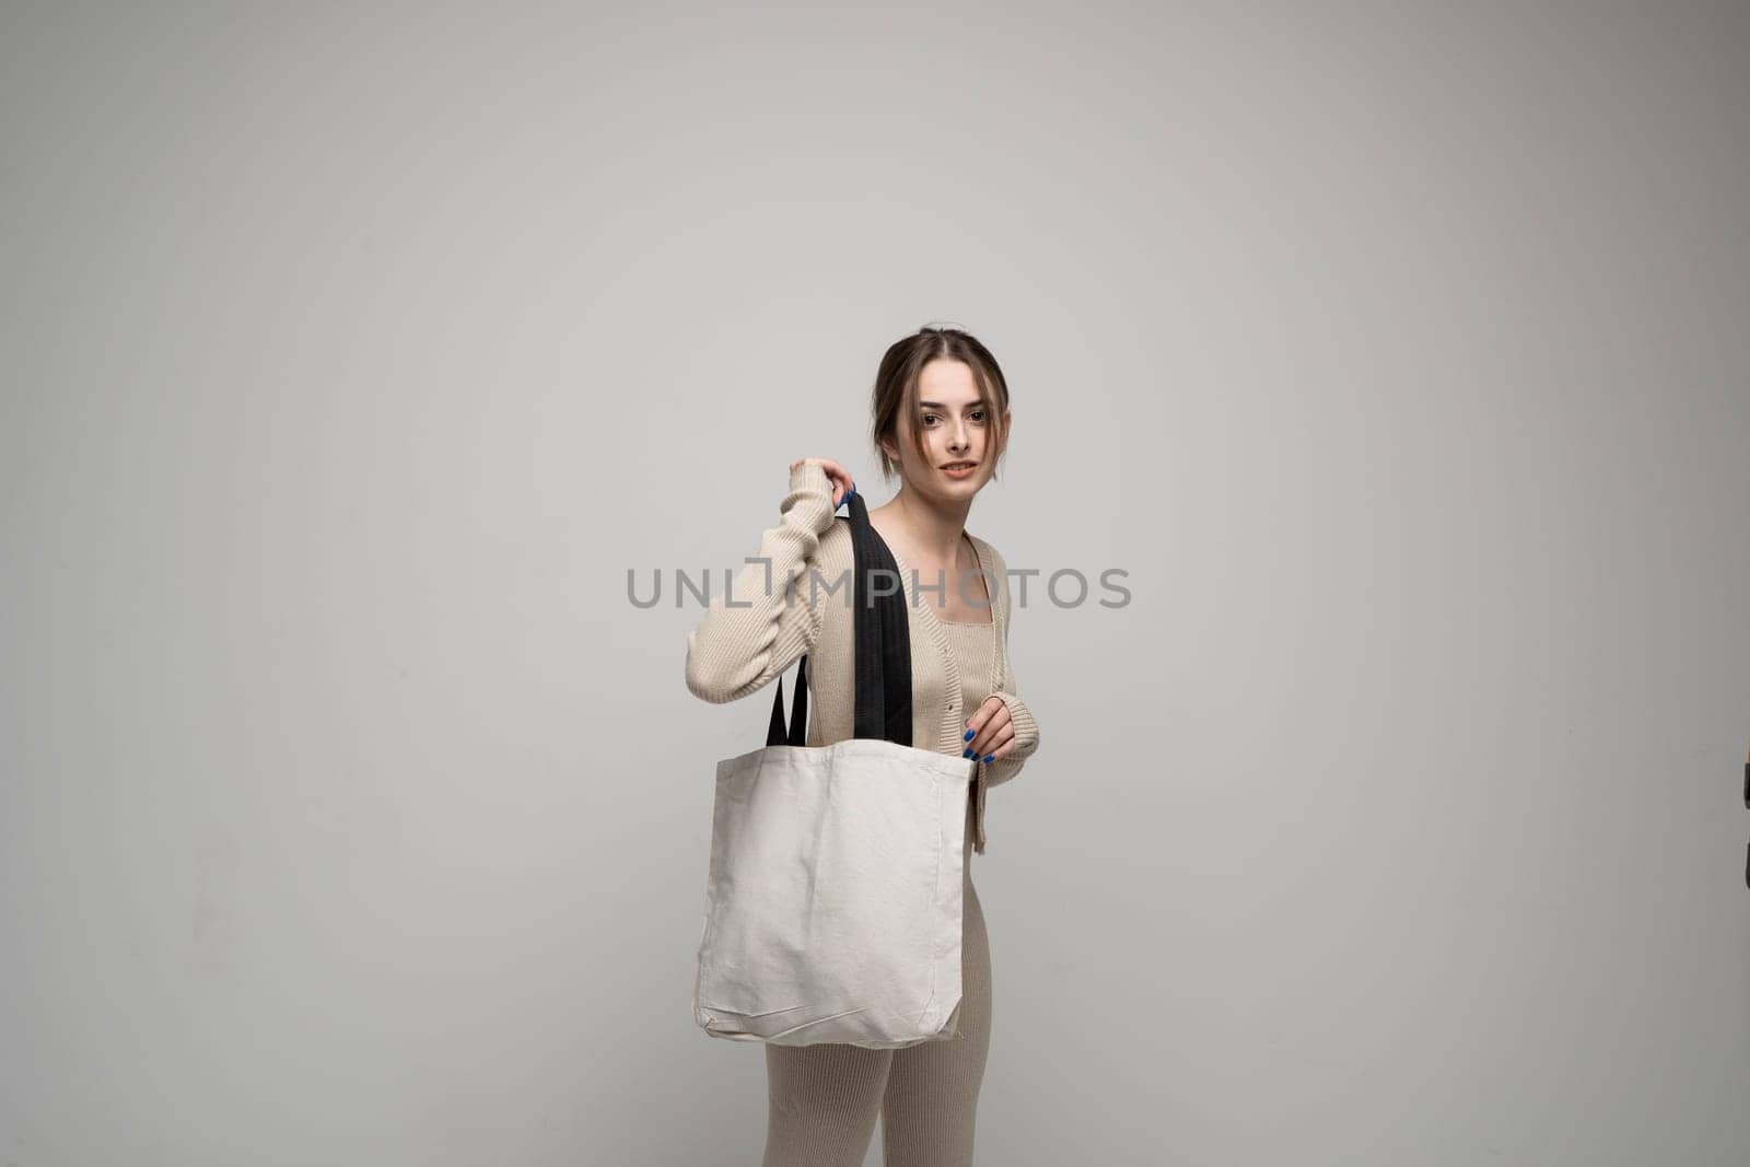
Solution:
<svg viewBox="0 0 1750 1167">
<path fill-rule="evenodd" d="M 1008 385 L 990 352 L 957 329 L 892 345 L 875 378 L 872 436 L 900 492 L 870 525 L 900 569 L 912 646 L 912 744 L 976 758 L 966 800 L 959 1032 L 903 1050 L 766 1045 L 765 1167 L 859 1167 L 875 1116 L 887 1167 L 973 1162 L 973 1127 L 990 1048 L 990 948 L 971 882 L 984 854 L 985 791 L 1020 773 L 1038 724 L 1008 663 L 1003 556 L 966 532 L 980 488 L 1008 446 Z M 830 458 L 789 465 L 780 521 L 688 633 L 686 686 L 733 702 L 808 656 L 808 745 L 854 737 L 850 525 L 835 511 L 856 490 Z M 817 577 L 817 581 L 816 581 Z M 789 583 L 794 581 L 794 583 Z M 922 597 L 922 598 L 920 598 Z"/>
</svg>

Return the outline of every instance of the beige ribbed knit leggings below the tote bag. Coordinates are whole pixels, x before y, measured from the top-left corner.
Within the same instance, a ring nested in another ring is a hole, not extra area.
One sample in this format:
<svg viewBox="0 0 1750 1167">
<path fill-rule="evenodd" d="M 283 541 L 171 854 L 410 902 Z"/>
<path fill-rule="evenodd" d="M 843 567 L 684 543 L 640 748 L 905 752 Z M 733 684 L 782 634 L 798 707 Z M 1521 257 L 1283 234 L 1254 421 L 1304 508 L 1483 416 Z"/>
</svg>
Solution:
<svg viewBox="0 0 1750 1167">
<path fill-rule="evenodd" d="M 966 871 L 959 1034 L 903 1050 L 768 1043 L 765 1167 L 863 1167 L 877 1113 L 886 1167 L 973 1162 L 978 1087 L 990 1050 L 990 940 Z"/>
</svg>

